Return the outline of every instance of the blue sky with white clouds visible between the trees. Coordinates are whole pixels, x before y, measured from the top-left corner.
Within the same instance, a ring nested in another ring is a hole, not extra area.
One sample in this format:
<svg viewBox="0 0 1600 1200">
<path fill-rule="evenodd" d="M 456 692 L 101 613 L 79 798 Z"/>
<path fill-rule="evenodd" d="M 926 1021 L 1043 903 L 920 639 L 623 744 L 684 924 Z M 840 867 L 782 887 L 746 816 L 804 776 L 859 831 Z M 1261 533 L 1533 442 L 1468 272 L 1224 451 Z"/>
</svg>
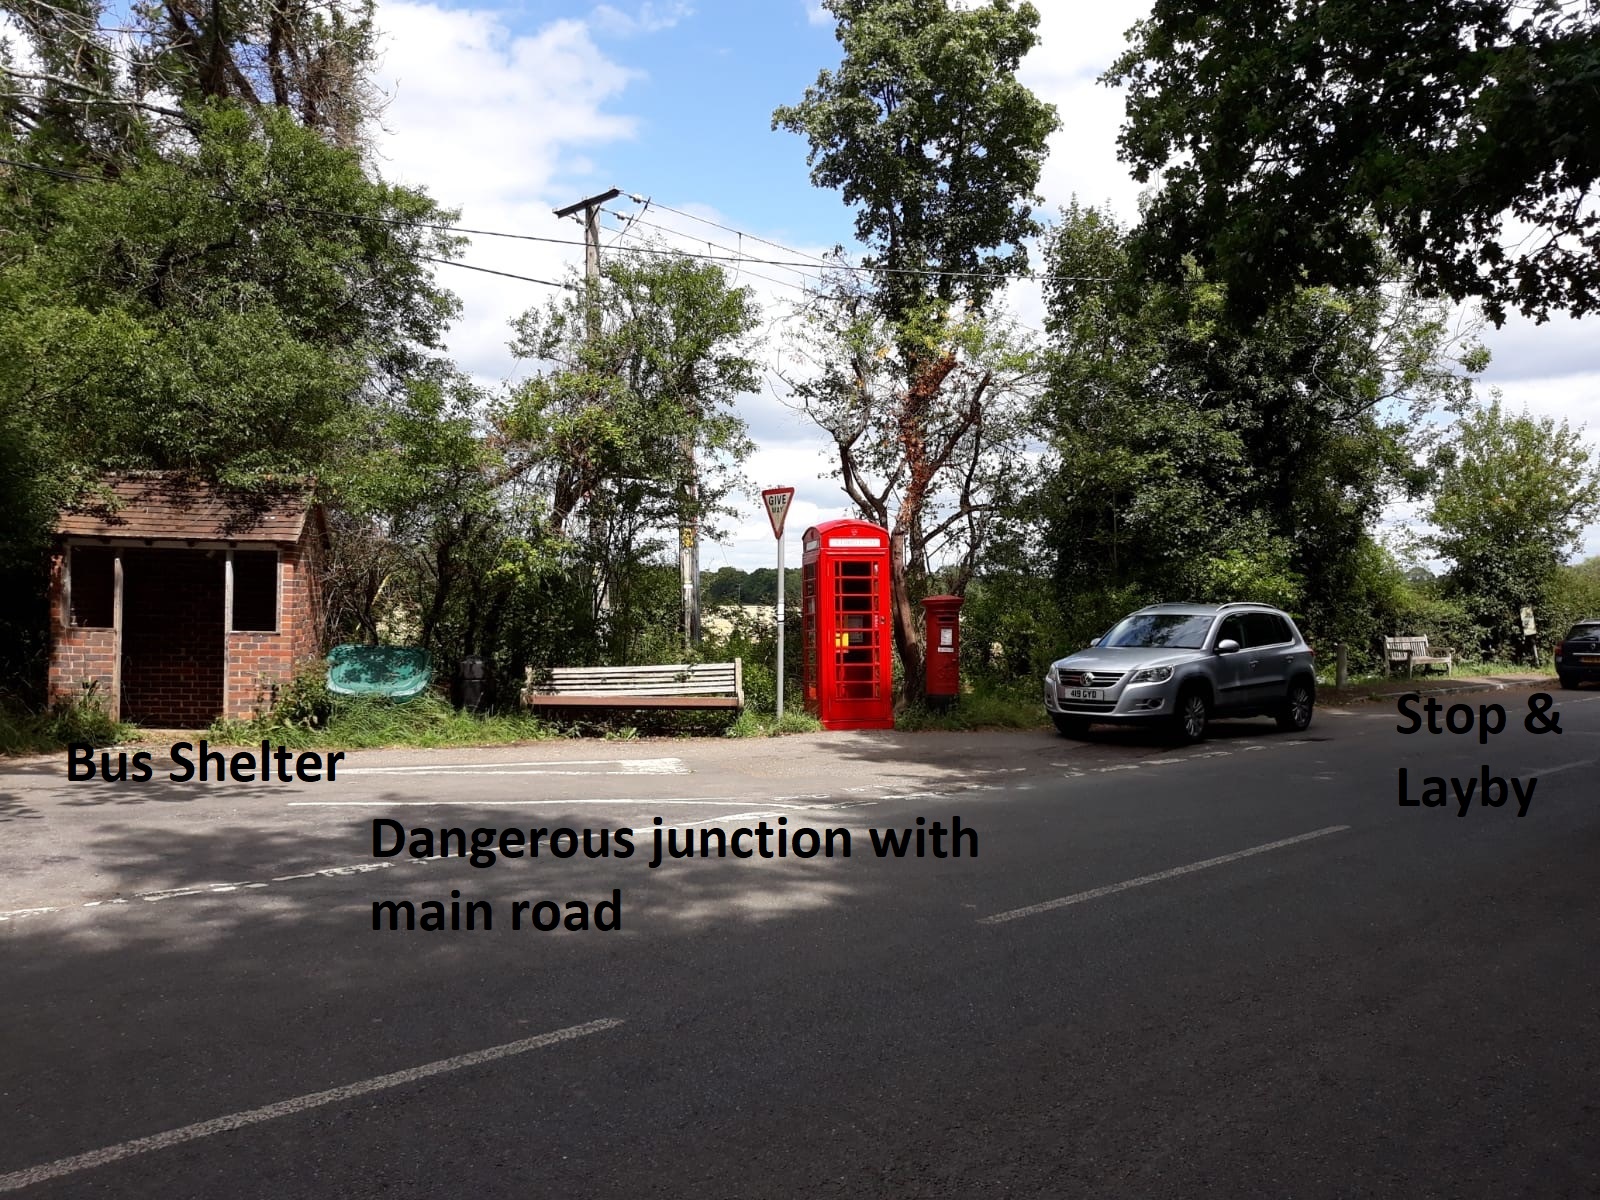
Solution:
<svg viewBox="0 0 1600 1200">
<path fill-rule="evenodd" d="M 1139 186 L 1117 160 L 1122 96 L 1096 80 L 1147 5 L 1035 3 L 1040 43 L 1021 78 L 1061 115 L 1040 211 L 1048 216 L 1075 197 L 1131 221 Z M 813 0 L 379 0 L 378 21 L 378 83 L 387 96 L 381 173 L 459 210 L 466 227 L 573 243 L 474 237 L 467 264 L 563 278 L 582 266 L 582 229 L 552 210 L 610 187 L 640 200 L 608 205 L 602 254 L 630 253 L 646 237 L 709 254 L 802 262 L 834 245 L 854 246 L 842 197 L 811 186 L 805 141 L 771 128 L 773 109 L 797 102 L 819 70 L 838 64 L 832 19 Z M 728 269 L 755 290 L 773 328 L 808 277 L 755 262 Z M 486 384 L 517 379 L 526 365 L 507 349 L 509 323 L 557 293 L 459 267 L 437 272 L 462 301 L 450 338 L 458 362 Z M 1021 322 L 1042 325 L 1037 288 L 1019 285 L 1008 302 Z M 1510 317 L 1504 328 L 1485 330 L 1493 360 L 1480 390 L 1498 387 L 1512 408 L 1584 424 L 1600 446 L 1597 333 L 1597 320 L 1557 317 L 1536 326 Z M 702 573 L 773 565 L 773 534 L 754 488 L 797 490 L 789 565 L 798 565 L 808 525 L 853 515 L 829 478 L 826 438 L 784 403 L 779 355 L 774 338 L 763 355 L 766 387 L 741 400 L 758 445 L 746 464 L 752 494 L 736 501 L 741 515 L 726 539 L 702 544 Z M 1390 514 L 1390 522 L 1403 518 L 1403 510 Z M 1589 531 L 1584 552 L 1600 554 L 1600 530 Z"/>
</svg>

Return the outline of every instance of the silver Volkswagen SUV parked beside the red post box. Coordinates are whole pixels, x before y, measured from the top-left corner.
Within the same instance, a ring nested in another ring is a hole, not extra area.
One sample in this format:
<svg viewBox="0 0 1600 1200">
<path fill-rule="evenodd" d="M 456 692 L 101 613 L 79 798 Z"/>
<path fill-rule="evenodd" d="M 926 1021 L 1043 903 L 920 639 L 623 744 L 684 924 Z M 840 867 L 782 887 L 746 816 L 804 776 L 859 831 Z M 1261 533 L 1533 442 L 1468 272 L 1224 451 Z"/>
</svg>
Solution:
<svg viewBox="0 0 1600 1200">
<path fill-rule="evenodd" d="M 1304 730 L 1315 704 L 1312 648 L 1267 605 L 1150 605 L 1045 675 L 1045 709 L 1069 738 L 1096 722 L 1157 723 L 1194 742 L 1211 717 Z"/>
</svg>

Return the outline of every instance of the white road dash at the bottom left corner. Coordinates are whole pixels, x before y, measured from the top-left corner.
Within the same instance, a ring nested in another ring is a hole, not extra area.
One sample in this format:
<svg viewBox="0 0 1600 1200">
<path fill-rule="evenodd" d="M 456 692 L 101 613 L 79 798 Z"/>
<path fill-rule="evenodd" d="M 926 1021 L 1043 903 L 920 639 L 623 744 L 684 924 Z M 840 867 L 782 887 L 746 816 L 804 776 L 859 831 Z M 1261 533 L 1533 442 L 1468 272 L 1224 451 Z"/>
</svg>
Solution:
<svg viewBox="0 0 1600 1200">
<path fill-rule="evenodd" d="M 414 1083 L 432 1075 L 443 1075 L 451 1070 L 475 1067 L 482 1062 L 494 1062 L 496 1059 L 510 1058 L 512 1054 L 526 1054 L 531 1050 L 544 1050 L 546 1046 L 573 1042 L 574 1038 L 589 1037 L 590 1034 L 603 1034 L 605 1030 L 616 1029 L 621 1024 L 622 1021 L 618 1018 L 602 1018 L 600 1021 L 589 1021 L 581 1026 L 568 1026 L 566 1029 L 557 1029 L 550 1034 L 525 1037 L 520 1042 L 506 1042 L 504 1045 L 490 1046 L 488 1050 L 474 1050 L 469 1054 L 456 1054 L 454 1058 L 442 1058 L 435 1062 L 424 1062 L 419 1067 L 406 1067 L 405 1070 L 378 1075 L 376 1078 L 362 1080 L 360 1083 L 346 1083 L 342 1088 L 312 1091 L 306 1096 L 278 1101 L 277 1104 L 267 1104 L 259 1109 L 230 1112 L 226 1117 L 213 1117 L 208 1122 L 184 1125 L 182 1128 L 166 1130 L 165 1133 L 155 1133 L 149 1138 L 134 1138 L 130 1142 L 118 1142 L 117 1146 L 107 1146 L 101 1150 L 77 1154 L 70 1158 L 58 1158 L 53 1163 L 42 1163 L 40 1166 L 27 1166 L 21 1171 L 13 1171 L 11 1174 L 0 1174 L 0 1192 L 14 1192 L 50 1179 L 61 1179 L 67 1174 L 77 1174 L 78 1171 L 88 1171 L 94 1166 L 104 1166 L 107 1163 L 118 1162 L 120 1158 L 131 1158 L 136 1154 L 165 1150 L 170 1146 L 182 1146 L 184 1142 L 211 1138 L 218 1133 L 232 1133 L 234 1130 L 243 1130 L 251 1125 L 259 1125 L 261 1122 L 277 1120 L 278 1117 L 293 1117 L 294 1114 L 306 1112 L 307 1109 L 318 1109 L 325 1104 L 339 1104 L 347 1099 L 355 1099 L 357 1096 L 384 1091 L 386 1088 L 398 1088 L 405 1083 Z"/>
</svg>

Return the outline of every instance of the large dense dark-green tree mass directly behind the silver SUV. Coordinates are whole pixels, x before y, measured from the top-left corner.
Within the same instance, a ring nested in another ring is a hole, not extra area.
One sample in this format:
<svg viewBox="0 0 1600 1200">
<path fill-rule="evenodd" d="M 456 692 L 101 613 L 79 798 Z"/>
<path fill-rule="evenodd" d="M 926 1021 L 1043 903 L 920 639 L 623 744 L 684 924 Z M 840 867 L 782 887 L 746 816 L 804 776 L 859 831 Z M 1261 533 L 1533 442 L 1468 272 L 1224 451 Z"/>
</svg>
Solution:
<svg viewBox="0 0 1600 1200">
<path fill-rule="evenodd" d="M 1378 514 L 1426 482 L 1424 418 L 1459 411 L 1486 355 L 1400 288 L 1301 288 L 1240 328 L 1194 264 L 1142 280 L 1130 242 L 1078 205 L 1046 240 L 1053 459 L 1022 523 L 1058 594 L 1094 622 L 1144 598 L 1270 600 L 1341 635 Z"/>
</svg>

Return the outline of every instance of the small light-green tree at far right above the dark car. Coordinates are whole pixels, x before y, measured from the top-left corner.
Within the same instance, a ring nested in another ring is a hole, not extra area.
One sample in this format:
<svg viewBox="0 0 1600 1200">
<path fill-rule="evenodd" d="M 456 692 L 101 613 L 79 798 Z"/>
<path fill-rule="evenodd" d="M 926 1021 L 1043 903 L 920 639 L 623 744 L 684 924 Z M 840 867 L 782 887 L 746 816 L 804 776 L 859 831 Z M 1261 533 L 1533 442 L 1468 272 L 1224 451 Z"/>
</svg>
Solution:
<svg viewBox="0 0 1600 1200">
<path fill-rule="evenodd" d="M 1518 610 L 1541 613 L 1557 568 L 1600 514 L 1600 472 L 1581 430 L 1507 413 L 1496 397 L 1435 453 L 1427 544 L 1450 560 L 1446 594 L 1494 643 L 1520 638 Z"/>
</svg>

